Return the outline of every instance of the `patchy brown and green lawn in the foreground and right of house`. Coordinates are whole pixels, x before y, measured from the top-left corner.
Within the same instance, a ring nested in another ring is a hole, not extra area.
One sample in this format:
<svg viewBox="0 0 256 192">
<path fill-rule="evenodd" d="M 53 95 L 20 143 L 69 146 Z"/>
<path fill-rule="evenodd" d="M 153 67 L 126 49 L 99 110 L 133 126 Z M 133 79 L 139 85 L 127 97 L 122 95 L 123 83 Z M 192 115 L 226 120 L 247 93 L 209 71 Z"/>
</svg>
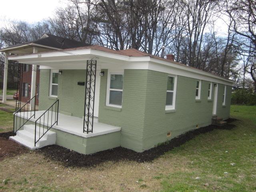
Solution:
<svg viewBox="0 0 256 192">
<path fill-rule="evenodd" d="M 153 162 L 66 168 L 34 151 L 6 158 L 0 191 L 256 191 L 256 106 L 231 106 L 231 116 L 234 129 L 201 134 Z"/>
</svg>

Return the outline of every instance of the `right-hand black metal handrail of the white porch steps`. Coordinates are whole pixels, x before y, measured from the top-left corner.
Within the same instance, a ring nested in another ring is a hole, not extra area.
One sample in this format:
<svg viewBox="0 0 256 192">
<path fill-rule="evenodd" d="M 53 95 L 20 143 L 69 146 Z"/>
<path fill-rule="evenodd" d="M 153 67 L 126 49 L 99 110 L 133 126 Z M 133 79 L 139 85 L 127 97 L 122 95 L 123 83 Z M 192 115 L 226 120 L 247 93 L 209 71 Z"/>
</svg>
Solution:
<svg viewBox="0 0 256 192">
<path fill-rule="evenodd" d="M 57 105 L 58 103 L 58 105 Z M 51 124 L 49 126 L 49 111 L 50 111 L 50 108 L 52 108 L 52 112 L 53 112 L 53 106 L 55 104 L 55 116 L 54 116 L 54 119 L 55 121 L 52 122 L 52 114 L 51 114 Z M 45 120 L 45 114 L 48 113 L 47 115 L 47 130 L 46 132 L 44 132 L 44 121 L 43 121 L 43 133 L 42 135 L 40 136 L 40 130 L 41 130 L 41 118 L 42 116 L 44 116 L 44 120 Z M 52 126 L 54 126 L 55 124 L 58 125 L 58 113 L 59 113 L 59 100 L 56 100 L 56 102 L 54 102 L 36 121 L 35 121 L 35 141 L 34 141 L 34 144 L 36 146 L 36 143 L 48 132 L 48 130 L 50 130 L 50 128 L 52 128 Z M 38 124 L 38 120 L 39 120 L 39 136 L 38 136 L 38 139 L 36 139 L 36 125 Z"/>
</svg>

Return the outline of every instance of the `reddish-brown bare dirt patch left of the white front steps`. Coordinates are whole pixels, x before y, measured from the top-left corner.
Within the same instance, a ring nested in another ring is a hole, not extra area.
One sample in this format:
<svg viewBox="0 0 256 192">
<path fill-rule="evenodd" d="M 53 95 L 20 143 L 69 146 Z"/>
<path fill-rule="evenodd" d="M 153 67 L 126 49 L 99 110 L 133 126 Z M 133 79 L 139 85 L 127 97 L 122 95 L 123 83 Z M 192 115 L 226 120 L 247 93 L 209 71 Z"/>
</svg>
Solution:
<svg viewBox="0 0 256 192">
<path fill-rule="evenodd" d="M 9 140 L 13 136 L 12 132 L 0 133 L 0 161 L 6 157 L 16 156 L 28 152 L 28 149 L 20 144 Z"/>
</svg>

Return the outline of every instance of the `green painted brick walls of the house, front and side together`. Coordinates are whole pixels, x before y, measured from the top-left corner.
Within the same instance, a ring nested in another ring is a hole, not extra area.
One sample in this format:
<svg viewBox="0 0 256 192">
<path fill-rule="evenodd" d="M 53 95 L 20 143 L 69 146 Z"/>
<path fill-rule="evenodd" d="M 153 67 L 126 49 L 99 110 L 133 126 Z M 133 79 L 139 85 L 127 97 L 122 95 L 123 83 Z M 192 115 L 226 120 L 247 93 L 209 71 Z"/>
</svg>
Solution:
<svg viewBox="0 0 256 192">
<path fill-rule="evenodd" d="M 166 112 L 168 74 L 152 70 L 124 70 L 123 100 L 120 109 L 106 106 L 108 70 L 102 69 L 102 71 L 105 73 L 104 76 L 100 76 L 98 120 L 101 123 L 121 127 L 120 141 L 116 141 L 115 145 L 120 142 L 122 147 L 142 152 L 193 130 L 196 125 L 203 127 L 211 124 L 214 88 L 212 87 L 212 100 L 208 100 L 208 83 L 210 83 L 208 81 L 202 80 L 200 100 L 196 101 L 197 79 L 177 76 L 175 111 Z M 85 72 L 85 70 L 62 70 L 58 79 L 61 113 L 82 118 L 85 86 L 78 86 L 77 82 L 85 81 Z M 56 98 L 53 100 L 49 97 L 50 70 L 40 70 L 40 73 L 39 110 L 44 110 Z M 213 84 L 214 82 L 212 86 Z M 222 106 L 223 86 L 219 84 L 218 87 L 217 115 L 226 119 L 230 114 L 231 86 L 227 86 L 226 89 L 225 107 Z M 171 132 L 171 137 L 167 137 L 167 132 Z M 67 136 L 63 135 L 63 138 Z M 59 138 L 59 141 L 58 144 L 64 146 L 64 140 Z M 74 142 L 75 145 L 79 143 Z M 81 150 L 83 149 L 82 147 Z"/>
</svg>

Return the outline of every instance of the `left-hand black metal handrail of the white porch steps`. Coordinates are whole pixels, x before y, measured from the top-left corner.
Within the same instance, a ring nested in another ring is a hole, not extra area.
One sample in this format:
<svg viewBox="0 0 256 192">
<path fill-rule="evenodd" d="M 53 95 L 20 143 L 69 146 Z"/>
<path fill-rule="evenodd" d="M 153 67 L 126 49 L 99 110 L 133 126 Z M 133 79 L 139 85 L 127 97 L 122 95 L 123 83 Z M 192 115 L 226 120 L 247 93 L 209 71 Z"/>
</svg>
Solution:
<svg viewBox="0 0 256 192">
<path fill-rule="evenodd" d="M 25 122 L 25 113 L 24 113 L 24 116 L 23 116 L 23 124 L 21 125 L 21 114 L 20 114 L 20 127 L 17 129 L 17 116 L 16 114 L 18 112 L 21 112 L 22 108 L 24 108 L 26 105 L 28 106 L 28 103 L 31 102 L 33 99 L 35 99 L 35 102 L 34 102 L 34 114 L 32 114 L 32 111 L 30 110 L 30 118 L 28 118 L 28 107 L 27 107 L 27 118 L 26 118 L 26 122 L 28 122 L 33 116 L 34 118 L 36 117 L 36 96 L 32 97 L 30 100 L 28 100 L 28 102 L 26 102 L 21 108 L 19 108 L 16 112 L 14 112 L 13 114 L 13 133 L 15 134 L 18 130 L 20 130 L 20 128 L 22 128 L 22 126 L 24 126 L 24 124 L 26 124 Z M 25 108 L 24 108 L 24 112 L 25 112 Z M 15 130 L 15 117 L 16 117 L 16 130 Z"/>
</svg>

